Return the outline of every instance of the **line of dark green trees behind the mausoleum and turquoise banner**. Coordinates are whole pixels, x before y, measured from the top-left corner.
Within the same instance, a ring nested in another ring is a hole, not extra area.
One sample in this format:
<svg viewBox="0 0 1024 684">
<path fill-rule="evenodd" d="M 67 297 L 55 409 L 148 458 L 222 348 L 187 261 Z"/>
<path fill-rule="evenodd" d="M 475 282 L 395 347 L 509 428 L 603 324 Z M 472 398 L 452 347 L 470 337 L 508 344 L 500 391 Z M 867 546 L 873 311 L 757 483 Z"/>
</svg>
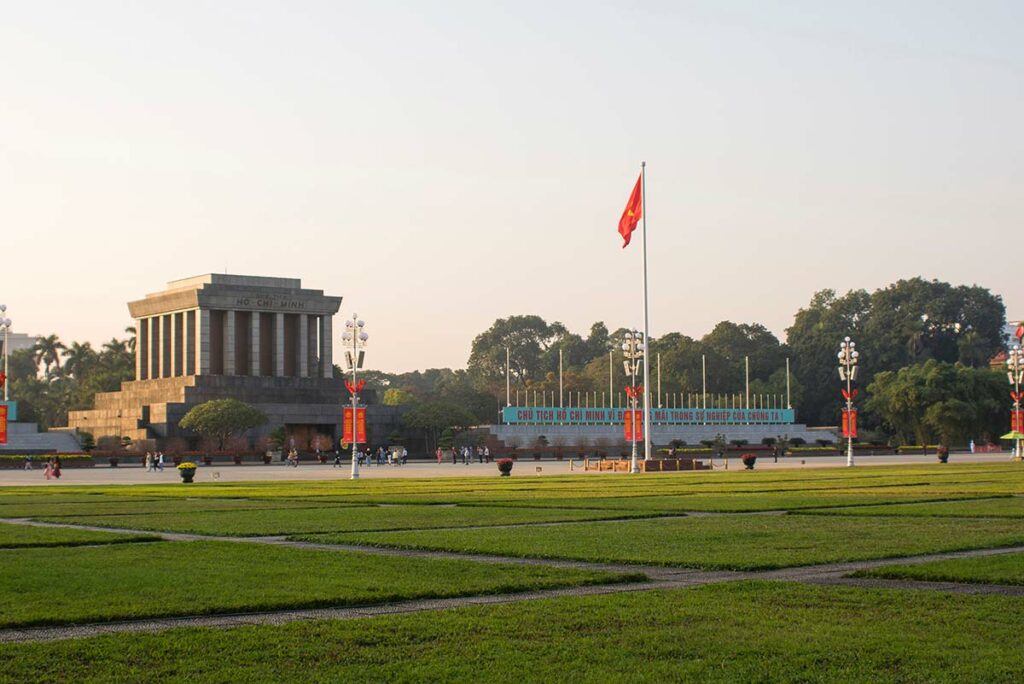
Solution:
<svg viewBox="0 0 1024 684">
<path fill-rule="evenodd" d="M 678 332 L 653 338 L 647 357 L 653 379 L 660 355 L 662 391 L 676 394 L 699 393 L 702 368 L 709 393 L 743 392 L 746 358 L 753 394 L 784 394 L 790 359 L 798 420 L 836 425 L 842 408 L 836 354 L 850 336 L 861 352 L 861 425 L 868 434 L 904 442 L 992 438 L 1009 420 L 1005 376 L 988 368 L 1005 348 L 1005 327 L 998 295 L 915 277 L 870 293 L 816 292 L 796 312 L 784 340 L 757 322 L 722 320 L 699 338 Z M 627 330 L 597 322 L 579 334 L 538 315 L 511 315 L 473 339 L 465 369 L 367 371 L 362 377 L 384 403 L 412 404 L 407 427 L 436 443 L 446 429 L 499 420 L 506 349 L 513 395 L 557 391 L 559 354 L 565 391 L 606 391 L 609 354 L 620 391 L 627 384 L 620 348 Z M 131 328 L 125 332 L 127 338 L 113 338 L 98 350 L 88 342 L 66 346 L 50 335 L 38 338 L 34 349 L 11 354 L 9 382 L 20 420 L 66 425 L 69 410 L 89 409 L 96 392 L 132 380 L 135 335 Z M 335 373 L 342 376 L 340 369 Z M 950 433 L 953 424 L 958 427 Z"/>
</svg>

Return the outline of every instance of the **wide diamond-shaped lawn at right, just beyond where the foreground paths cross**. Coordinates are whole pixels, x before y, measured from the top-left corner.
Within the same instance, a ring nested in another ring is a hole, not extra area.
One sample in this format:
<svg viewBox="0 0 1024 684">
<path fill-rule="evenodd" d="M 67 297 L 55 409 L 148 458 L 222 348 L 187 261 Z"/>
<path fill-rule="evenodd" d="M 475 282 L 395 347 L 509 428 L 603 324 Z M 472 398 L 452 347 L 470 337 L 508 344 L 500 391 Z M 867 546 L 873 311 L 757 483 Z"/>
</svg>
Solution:
<svg viewBox="0 0 1024 684">
<path fill-rule="evenodd" d="M 1015 520 L 721 515 L 510 529 L 434 529 L 304 536 L 505 556 L 769 569 L 1024 544 Z"/>
</svg>

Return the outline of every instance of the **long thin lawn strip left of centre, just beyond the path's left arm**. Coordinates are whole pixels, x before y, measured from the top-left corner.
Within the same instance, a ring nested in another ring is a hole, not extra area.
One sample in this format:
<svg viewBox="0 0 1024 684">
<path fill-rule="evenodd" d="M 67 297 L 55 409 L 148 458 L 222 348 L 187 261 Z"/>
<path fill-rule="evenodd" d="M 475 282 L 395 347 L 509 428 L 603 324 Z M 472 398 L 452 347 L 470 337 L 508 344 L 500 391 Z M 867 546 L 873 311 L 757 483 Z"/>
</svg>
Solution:
<svg viewBox="0 0 1024 684">
<path fill-rule="evenodd" d="M 468 527 L 527 522 L 595 520 L 644 515 L 629 511 L 485 508 L 457 506 L 351 506 L 249 511 L 88 515 L 74 522 L 101 527 L 197 535 L 254 537 L 326 531 Z M 41 518 L 47 520 L 50 518 Z M 71 520 L 52 518 L 54 521 Z"/>
</svg>

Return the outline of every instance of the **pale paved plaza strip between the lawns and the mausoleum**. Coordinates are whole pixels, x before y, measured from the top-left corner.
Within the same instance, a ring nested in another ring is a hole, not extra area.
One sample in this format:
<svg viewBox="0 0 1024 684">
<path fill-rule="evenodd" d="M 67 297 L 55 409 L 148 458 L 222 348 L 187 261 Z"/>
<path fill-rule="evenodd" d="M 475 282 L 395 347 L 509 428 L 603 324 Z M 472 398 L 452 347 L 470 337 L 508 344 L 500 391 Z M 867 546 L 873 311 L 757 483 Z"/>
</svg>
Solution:
<svg viewBox="0 0 1024 684">
<path fill-rule="evenodd" d="M 950 454 L 950 463 L 1008 463 L 1009 453 L 1002 454 Z M 708 461 L 705 460 L 705 463 Z M 936 463 L 935 456 L 860 456 L 857 457 L 858 467 L 892 466 L 892 465 L 927 465 Z M 728 468 L 718 459 L 715 461 L 716 472 L 723 470 L 743 470 L 739 459 L 729 459 Z M 798 469 L 798 468 L 842 468 L 846 467 L 846 457 L 786 457 L 775 463 L 771 458 L 758 459 L 758 470 Z M 259 481 L 301 481 L 301 480 L 332 480 L 348 479 L 351 470 L 350 462 L 335 468 L 331 464 L 304 463 L 297 468 L 279 463 L 269 465 L 232 463 L 200 466 L 196 471 L 197 482 L 259 482 Z M 708 471 L 700 471 L 708 472 Z M 596 472 L 583 470 L 582 461 L 527 461 L 516 462 L 512 469 L 513 477 L 544 477 L 547 475 L 592 475 L 603 477 L 623 476 L 626 473 Z M 684 474 L 684 473 L 677 473 Z M 472 463 L 468 466 L 461 463 L 422 462 L 415 461 L 404 466 L 364 466 L 359 469 L 362 479 L 378 479 L 390 477 L 498 477 L 498 467 L 494 463 Z M 642 476 L 642 475 L 641 475 Z M 40 485 L 60 486 L 69 484 L 152 484 L 154 482 L 174 483 L 180 481 L 173 464 L 165 466 L 163 472 L 146 472 L 141 466 L 119 466 L 111 468 L 97 465 L 93 468 L 65 468 L 59 480 L 43 478 L 43 470 L 36 464 L 34 470 L 0 470 L 0 486 Z"/>
</svg>

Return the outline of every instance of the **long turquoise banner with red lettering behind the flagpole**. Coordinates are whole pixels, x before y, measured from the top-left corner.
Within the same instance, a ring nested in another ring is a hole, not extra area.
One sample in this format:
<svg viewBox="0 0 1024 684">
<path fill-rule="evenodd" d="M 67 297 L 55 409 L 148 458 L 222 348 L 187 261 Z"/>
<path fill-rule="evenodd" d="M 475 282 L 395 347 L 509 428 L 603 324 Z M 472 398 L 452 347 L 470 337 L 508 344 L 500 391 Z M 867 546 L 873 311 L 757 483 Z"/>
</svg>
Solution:
<svg viewBox="0 0 1024 684">
<path fill-rule="evenodd" d="M 506 407 L 506 425 L 622 425 L 626 409 Z M 785 425 L 793 409 L 651 409 L 652 425 Z"/>
</svg>

